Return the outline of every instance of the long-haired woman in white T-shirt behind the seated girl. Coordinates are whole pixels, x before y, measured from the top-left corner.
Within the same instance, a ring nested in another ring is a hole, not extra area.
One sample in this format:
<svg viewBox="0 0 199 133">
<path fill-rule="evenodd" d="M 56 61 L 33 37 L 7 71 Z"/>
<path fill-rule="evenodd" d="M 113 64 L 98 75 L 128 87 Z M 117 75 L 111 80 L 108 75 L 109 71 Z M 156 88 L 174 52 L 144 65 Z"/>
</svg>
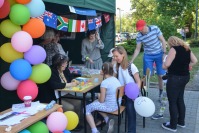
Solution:
<svg viewBox="0 0 199 133">
<path fill-rule="evenodd" d="M 122 46 L 118 46 L 113 50 L 113 57 L 116 60 L 117 64 L 114 67 L 115 75 L 118 76 L 118 79 L 122 86 L 130 82 L 136 82 L 140 88 L 141 80 L 139 77 L 139 72 L 137 67 L 132 63 L 131 71 L 134 79 L 131 77 L 128 71 L 128 56 L 126 50 Z M 126 99 L 126 109 L 127 109 L 127 118 L 128 118 L 128 133 L 136 133 L 136 112 L 134 108 L 134 101 L 127 97 Z"/>
</svg>

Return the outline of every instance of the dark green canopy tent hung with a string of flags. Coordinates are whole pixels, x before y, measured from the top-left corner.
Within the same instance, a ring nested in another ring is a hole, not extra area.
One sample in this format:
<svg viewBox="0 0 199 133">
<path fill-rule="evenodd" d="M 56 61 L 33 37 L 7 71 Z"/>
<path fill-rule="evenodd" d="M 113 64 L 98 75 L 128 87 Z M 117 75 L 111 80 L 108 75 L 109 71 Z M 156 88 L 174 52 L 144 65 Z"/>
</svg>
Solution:
<svg viewBox="0 0 199 133">
<path fill-rule="evenodd" d="M 73 14 L 69 11 L 68 6 L 82 7 L 94 9 L 98 14 L 108 13 L 110 21 L 102 24 L 100 28 L 100 36 L 105 44 L 105 48 L 101 51 L 103 61 L 107 61 L 109 50 L 114 47 L 115 43 L 115 0 L 43 0 L 47 11 L 57 15 Z M 76 15 L 76 19 L 86 20 L 87 16 Z M 2 21 L 2 20 L 0 20 Z M 75 39 L 61 39 L 61 44 L 65 51 L 69 51 L 69 58 L 74 64 L 82 64 L 81 61 L 81 41 L 85 38 L 85 33 L 75 33 Z M 0 34 L 0 45 L 10 42 L 10 39 L 3 37 Z M 34 44 L 39 44 L 40 39 L 35 39 Z M 0 59 L 0 74 L 1 76 L 9 71 L 9 63 Z M 16 91 L 7 91 L 0 86 L 0 111 L 8 109 L 13 103 L 20 103 Z"/>
</svg>

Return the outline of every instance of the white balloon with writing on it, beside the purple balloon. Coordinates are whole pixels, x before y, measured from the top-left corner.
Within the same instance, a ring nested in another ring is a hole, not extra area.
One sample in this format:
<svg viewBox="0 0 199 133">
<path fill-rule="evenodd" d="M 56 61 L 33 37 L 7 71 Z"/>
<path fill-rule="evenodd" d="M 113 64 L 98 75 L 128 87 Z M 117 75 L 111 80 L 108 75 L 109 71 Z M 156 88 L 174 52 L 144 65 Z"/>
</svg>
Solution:
<svg viewBox="0 0 199 133">
<path fill-rule="evenodd" d="M 155 113 L 155 104 L 148 97 L 138 97 L 134 101 L 135 111 L 142 117 L 150 117 Z"/>
</svg>

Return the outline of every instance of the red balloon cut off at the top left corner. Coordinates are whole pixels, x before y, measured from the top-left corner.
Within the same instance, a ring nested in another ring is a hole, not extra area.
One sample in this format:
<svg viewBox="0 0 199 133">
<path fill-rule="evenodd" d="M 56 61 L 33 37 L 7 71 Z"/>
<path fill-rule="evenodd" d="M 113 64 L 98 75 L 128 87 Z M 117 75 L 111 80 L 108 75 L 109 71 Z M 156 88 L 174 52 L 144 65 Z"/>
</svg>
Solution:
<svg viewBox="0 0 199 133">
<path fill-rule="evenodd" d="M 4 3 L 0 8 L 0 19 L 7 17 L 9 12 L 10 12 L 10 3 L 8 2 L 8 0 L 4 0 Z"/>
</svg>

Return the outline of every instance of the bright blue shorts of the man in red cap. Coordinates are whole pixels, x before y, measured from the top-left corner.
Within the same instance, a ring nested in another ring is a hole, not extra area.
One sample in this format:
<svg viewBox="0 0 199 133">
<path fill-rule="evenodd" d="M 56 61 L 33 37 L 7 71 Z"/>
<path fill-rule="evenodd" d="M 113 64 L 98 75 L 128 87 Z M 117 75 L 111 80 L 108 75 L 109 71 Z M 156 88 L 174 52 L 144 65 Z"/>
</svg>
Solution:
<svg viewBox="0 0 199 133">
<path fill-rule="evenodd" d="M 144 56 L 143 56 L 143 74 L 146 75 L 147 68 L 150 69 L 150 72 L 152 74 L 153 63 L 155 62 L 157 75 L 164 75 L 165 70 L 162 68 L 162 57 L 163 57 L 162 52 L 159 54 L 153 54 L 153 55 L 144 54 Z"/>
</svg>

